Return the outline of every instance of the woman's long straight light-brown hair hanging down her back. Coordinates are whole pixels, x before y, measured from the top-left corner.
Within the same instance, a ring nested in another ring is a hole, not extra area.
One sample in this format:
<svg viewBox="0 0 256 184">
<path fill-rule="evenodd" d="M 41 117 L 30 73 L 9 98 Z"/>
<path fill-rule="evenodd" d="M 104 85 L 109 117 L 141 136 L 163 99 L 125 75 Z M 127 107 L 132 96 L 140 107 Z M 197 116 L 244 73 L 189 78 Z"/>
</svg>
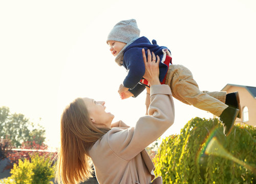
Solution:
<svg viewBox="0 0 256 184">
<path fill-rule="evenodd" d="M 89 148 L 110 129 L 93 125 L 83 99 L 77 98 L 63 111 L 60 121 L 60 150 L 55 180 L 77 183 L 91 177 Z"/>
</svg>

